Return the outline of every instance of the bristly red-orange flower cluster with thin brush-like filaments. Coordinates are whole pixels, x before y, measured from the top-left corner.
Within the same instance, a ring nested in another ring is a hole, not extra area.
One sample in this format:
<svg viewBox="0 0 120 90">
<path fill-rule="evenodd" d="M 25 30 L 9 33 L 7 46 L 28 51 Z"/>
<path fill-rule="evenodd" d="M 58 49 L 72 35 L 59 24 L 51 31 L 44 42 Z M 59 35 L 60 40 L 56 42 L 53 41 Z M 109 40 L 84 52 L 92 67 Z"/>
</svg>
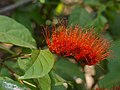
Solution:
<svg viewBox="0 0 120 90">
<path fill-rule="evenodd" d="M 86 65 L 94 65 L 110 55 L 109 42 L 93 33 L 83 31 L 78 26 L 66 28 L 59 26 L 46 34 L 46 43 L 51 52 L 65 57 L 73 57 Z"/>
</svg>

